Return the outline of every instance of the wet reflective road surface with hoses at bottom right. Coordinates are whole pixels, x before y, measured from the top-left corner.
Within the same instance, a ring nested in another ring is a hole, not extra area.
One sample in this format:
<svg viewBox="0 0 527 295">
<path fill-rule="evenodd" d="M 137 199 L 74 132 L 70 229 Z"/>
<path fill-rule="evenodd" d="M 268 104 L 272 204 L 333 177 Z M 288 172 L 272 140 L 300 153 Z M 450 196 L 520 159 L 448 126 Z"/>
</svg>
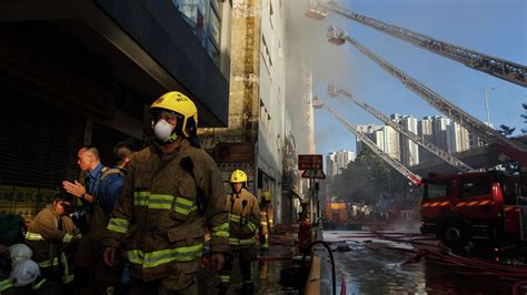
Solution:
<svg viewBox="0 0 527 295">
<path fill-rule="evenodd" d="M 338 272 L 346 282 L 346 294 L 511 294 L 513 284 L 493 277 L 476 277 L 454 273 L 451 265 L 422 258 L 401 265 L 414 255 L 406 243 L 371 237 L 356 237 L 365 232 L 325 233 L 325 241 L 342 241 L 331 245 L 348 245 L 349 252 L 334 251 Z M 347 236 L 347 237 L 346 237 Z M 352 237 L 349 237 L 352 236 Z M 330 281 L 329 281 L 330 282 Z M 329 284 L 330 286 L 330 284 Z M 340 292 L 340 279 L 337 283 Z"/>
</svg>

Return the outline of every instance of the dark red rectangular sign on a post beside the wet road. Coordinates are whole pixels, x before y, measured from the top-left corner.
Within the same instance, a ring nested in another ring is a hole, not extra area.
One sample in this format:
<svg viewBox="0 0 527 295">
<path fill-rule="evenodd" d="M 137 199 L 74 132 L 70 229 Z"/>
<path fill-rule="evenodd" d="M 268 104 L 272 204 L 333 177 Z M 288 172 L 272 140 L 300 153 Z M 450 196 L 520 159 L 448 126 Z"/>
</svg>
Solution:
<svg viewBox="0 0 527 295">
<path fill-rule="evenodd" d="M 315 223 L 315 217 L 319 215 L 320 204 L 318 202 L 318 191 L 315 190 L 315 180 L 325 180 L 326 175 L 322 170 L 322 155 L 321 154 L 299 154 L 298 155 L 298 170 L 304 170 L 302 177 L 309 179 L 309 190 L 311 193 L 310 218 L 311 223 Z M 316 203 L 317 212 L 314 212 L 314 205 Z"/>
</svg>

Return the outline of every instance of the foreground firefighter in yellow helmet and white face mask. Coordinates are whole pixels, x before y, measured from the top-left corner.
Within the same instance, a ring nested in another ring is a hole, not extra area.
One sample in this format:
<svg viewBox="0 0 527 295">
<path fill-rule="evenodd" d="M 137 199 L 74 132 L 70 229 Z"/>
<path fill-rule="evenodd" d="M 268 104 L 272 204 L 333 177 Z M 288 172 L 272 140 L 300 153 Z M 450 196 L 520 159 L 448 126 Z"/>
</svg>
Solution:
<svg viewBox="0 0 527 295">
<path fill-rule="evenodd" d="M 150 108 L 156 143 L 130 161 L 108 223 L 103 261 L 129 261 L 132 294 L 197 294 L 203 227 L 212 265 L 228 251 L 226 193 L 215 161 L 199 145 L 193 102 L 173 91 Z M 117 251 L 119 250 L 119 252 Z"/>
</svg>

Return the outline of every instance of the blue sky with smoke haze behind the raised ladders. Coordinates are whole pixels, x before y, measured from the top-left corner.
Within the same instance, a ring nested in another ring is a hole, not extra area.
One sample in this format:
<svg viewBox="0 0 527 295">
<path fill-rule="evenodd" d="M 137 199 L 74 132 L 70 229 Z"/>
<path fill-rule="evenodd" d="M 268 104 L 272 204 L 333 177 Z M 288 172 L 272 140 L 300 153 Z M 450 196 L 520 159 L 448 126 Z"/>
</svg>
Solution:
<svg viewBox="0 0 527 295">
<path fill-rule="evenodd" d="M 511 62 L 527 64 L 526 0 L 337 0 L 342 7 L 399 26 L 431 38 L 471 49 Z M 310 20 L 311 22 L 317 22 Z M 490 123 L 516 128 L 524 123 L 521 103 L 527 103 L 527 90 L 486 73 L 473 70 L 414 47 L 410 43 L 376 31 L 329 12 L 319 22 L 347 30 L 354 39 L 389 61 L 414 79 L 443 95 L 481 121 L 486 119 L 485 92 L 488 91 Z M 317 32 L 320 34 L 320 32 Z M 376 118 L 344 98 L 326 94 L 328 82 L 350 91 L 386 115 L 392 113 L 425 115 L 440 113 L 397 79 L 358 52 L 351 44 L 336 47 L 326 42 L 312 54 L 314 94 L 338 110 L 352 124 L 380 124 Z M 315 113 L 317 153 L 356 150 L 355 135 L 325 110 Z"/>
</svg>

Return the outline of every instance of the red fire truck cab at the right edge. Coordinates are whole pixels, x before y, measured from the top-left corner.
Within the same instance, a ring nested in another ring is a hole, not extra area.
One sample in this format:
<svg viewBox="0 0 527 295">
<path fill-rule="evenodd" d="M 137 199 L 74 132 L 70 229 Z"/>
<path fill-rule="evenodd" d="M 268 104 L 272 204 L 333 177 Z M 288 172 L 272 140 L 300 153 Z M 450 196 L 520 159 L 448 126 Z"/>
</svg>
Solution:
<svg viewBox="0 0 527 295">
<path fill-rule="evenodd" d="M 422 179 L 421 233 L 432 233 L 448 247 L 527 240 L 527 199 L 520 177 L 503 171 Z"/>
</svg>

